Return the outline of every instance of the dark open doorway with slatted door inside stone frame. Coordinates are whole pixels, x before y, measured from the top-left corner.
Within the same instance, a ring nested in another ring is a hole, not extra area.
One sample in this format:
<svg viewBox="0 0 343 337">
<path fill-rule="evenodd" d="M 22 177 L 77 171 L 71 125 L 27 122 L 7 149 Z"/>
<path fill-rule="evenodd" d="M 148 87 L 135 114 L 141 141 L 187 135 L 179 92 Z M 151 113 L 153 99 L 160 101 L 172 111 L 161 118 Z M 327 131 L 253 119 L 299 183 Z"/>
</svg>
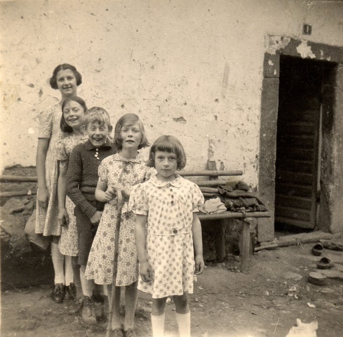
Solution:
<svg viewBox="0 0 343 337">
<path fill-rule="evenodd" d="M 314 229 L 320 197 L 322 92 L 328 62 L 280 56 L 275 223 Z"/>
</svg>

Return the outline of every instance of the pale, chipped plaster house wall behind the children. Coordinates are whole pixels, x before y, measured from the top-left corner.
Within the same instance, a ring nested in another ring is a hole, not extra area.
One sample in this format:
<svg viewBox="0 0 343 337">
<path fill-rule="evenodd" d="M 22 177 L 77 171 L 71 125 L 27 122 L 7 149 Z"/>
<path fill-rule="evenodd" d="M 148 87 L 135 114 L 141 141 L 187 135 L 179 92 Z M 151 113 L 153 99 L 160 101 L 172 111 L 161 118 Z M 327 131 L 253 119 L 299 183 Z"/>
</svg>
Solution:
<svg viewBox="0 0 343 337">
<path fill-rule="evenodd" d="M 2 166 L 35 165 L 47 80 L 70 63 L 78 95 L 113 124 L 139 114 L 153 141 L 182 141 L 187 169 L 244 171 L 257 184 L 266 36 L 343 46 L 343 4 L 241 0 L 16 0 L 0 3 Z M 304 23 L 312 35 L 302 34 Z"/>
</svg>

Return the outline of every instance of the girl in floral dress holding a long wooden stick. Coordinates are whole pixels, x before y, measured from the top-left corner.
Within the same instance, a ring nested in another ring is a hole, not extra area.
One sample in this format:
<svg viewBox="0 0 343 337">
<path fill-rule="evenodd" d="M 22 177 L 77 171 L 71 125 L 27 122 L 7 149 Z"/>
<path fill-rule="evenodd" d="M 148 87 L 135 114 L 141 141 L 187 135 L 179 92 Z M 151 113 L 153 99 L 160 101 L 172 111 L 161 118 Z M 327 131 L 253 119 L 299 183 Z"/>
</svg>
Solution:
<svg viewBox="0 0 343 337">
<path fill-rule="evenodd" d="M 104 158 L 98 169 L 99 181 L 95 198 L 105 202 L 98 230 L 93 240 L 86 266 L 85 277 L 96 284 L 110 285 L 113 277 L 117 198 L 115 189 L 123 194 L 121 227 L 119 236 L 118 272 L 116 278 L 116 303 L 113 305 L 111 335 L 135 336 L 133 329 L 137 303 L 138 263 L 135 243 L 135 214 L 128 210 L 132 187 L 149 179 L 154 173 L 147 167 L 139 149 L 149 146 L 143 123 L 135 114 L 122 116 L 115 127 L 115 142 L 118 153 Z M 120 321 L 120 287 L 125 286 L 124 330 Z M 106 291 L 107 287 L 105 287 Z"/>
</svg>

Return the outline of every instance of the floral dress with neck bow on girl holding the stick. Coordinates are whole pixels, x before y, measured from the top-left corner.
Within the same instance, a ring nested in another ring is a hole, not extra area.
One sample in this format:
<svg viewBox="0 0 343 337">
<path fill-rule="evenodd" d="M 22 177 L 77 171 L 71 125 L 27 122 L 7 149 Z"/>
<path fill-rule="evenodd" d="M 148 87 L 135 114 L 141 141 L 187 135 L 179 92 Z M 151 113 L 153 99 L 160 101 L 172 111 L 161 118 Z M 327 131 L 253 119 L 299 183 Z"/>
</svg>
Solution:
<svg viewBox="0 0 343 337">
<path fill-rule="evenodd" d="M 102 160 L 99 165 L 99 180 L 107 186 L 121 183 L 132 187 L 149 179 L 155 168 L 147 167 L 141 154 L 127 160 L 116 153 Z M 89 253 L 85 277 L 96 284 L 112 283 L 113 259 L 116 239 L 117 199 L 105 203 L 98 230 Z M 135 240 L 135 214 L 124 202 L 119 235 L 119 257 L 116 285 L 128 286 L 138 279 L 137 249 Z"/>
</svg>

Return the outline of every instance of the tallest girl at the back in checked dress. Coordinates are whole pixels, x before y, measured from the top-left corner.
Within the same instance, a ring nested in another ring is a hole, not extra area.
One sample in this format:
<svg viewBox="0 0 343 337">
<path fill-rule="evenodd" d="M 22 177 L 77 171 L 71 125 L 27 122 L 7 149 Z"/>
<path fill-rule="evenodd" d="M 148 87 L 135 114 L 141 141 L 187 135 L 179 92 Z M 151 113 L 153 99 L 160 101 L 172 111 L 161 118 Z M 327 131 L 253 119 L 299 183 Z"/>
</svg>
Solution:
<svg viewBox="0 0 343 337">
<path fill-rule="evenodd" d="M 68 134 L 61 131 L 61 105 L 63 101 L 77 94 L 77 87 L 82 83 L 82 76 L 70 64 L 57 66 L 52 73 L 49 84 L 59 89 L 61 101 L 49 107 L 39 115 L 39 134 L 36 156 L 38 180 L 36 228 L 35 233 L 51 239 L 51 258 L 54 269 L 54 290 L 51 294 L 55 302 L 61 303 L 64 298 L 63 289 L 57 284 L 64 284 L 64 260 L 58 242 L 61 225 L 58 221 L 57 179 L 59 167 L 56 160 L 56 144 Z"/>
</svg>

